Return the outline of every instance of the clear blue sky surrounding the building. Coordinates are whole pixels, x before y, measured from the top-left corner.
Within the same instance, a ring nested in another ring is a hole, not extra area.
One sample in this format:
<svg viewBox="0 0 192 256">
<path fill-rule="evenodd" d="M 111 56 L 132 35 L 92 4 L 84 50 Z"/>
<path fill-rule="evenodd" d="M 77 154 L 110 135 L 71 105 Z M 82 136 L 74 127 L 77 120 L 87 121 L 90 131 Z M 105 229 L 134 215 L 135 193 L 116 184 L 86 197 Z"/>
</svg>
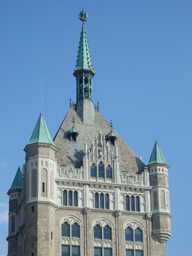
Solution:
<svg viewBox="0 0 192 256">
<path fill-rule="evenodd" d="M 191 0 L 0 1 L 0 256 L 7 255 L 8 196 L 40 114 L 52 137 L 76 99 L 72 75 L 81 22 L 94 76 L 93 101 L 148 163 L 157 139 L 169 171 L 172 236 L 166 256 L 191 251 Z"/>
</svg>

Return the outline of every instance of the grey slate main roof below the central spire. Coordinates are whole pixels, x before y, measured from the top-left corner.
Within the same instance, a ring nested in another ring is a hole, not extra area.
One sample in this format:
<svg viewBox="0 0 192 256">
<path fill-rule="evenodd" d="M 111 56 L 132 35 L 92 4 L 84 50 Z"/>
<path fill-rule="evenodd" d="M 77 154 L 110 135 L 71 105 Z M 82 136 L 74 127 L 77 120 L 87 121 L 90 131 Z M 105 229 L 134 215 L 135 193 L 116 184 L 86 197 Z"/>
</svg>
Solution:
<svg viewBox="0 0 192 256">
<path fill-rule="evenodd" d="M 79 132 L 77 143 L 70 142 L 68 136 L 73 116 L 76 120 L 76 129 Z M 56 152 L 58 164 L 74 165 L 77 168 L 82 166 L 84 142 L 87 142 L 89 149 L 91 147 L 91 141 L 95 140 L 95 136 L 98 136 L 100 130 L 103 136 L 107 136 L 110 129 L 110 124 L 99 111 L 95 111 L 94 124 L 85 125 L 79 118 L 76 110 L 70 108 L 54 138 L 54 143 L 58 146 L 58 151 Z M 145 167 L 144 163 L 126 144 L 116 130 L 114 130 L 114 134 L 117 136 L 116 145 L 118 146 L 120 170 L 142 172 Z M 110 146 L 110 148 L 114 149 L 114 146 Z"/>
</svg>

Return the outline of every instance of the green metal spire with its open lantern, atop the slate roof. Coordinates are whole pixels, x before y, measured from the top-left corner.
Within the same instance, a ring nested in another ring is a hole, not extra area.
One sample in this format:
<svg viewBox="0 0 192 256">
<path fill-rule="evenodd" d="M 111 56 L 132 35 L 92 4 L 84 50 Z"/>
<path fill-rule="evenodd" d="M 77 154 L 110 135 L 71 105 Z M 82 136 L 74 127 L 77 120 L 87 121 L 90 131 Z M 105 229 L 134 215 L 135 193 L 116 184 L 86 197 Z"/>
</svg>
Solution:
<svg viewBox="0 0 192 256">
<path fill-rule="evenodd" d="M 77 65 L 73 73 L 76 77 L 77 100 L 81 98 L 88 98 L 92 100 L 92 78 L 94 74 L 95 71 L 92 68 L 85 26 L 83 24 L 77 56 Z"/>
</svg>

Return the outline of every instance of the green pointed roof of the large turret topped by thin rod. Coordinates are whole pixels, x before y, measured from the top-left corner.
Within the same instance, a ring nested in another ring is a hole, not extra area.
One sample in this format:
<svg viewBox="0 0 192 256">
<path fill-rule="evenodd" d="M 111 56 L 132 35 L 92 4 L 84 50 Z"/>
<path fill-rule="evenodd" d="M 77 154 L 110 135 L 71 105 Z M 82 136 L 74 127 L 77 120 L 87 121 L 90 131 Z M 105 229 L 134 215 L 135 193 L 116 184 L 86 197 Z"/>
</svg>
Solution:
<svg viewBox="0 0 192 256">
<path fill-rule="evenodd" d="M 54 144 L 50 132 L 48 130 L 48 127 L 46 125 L 44 116 L 42 114 L 42 112 L 40 113 L 40 116 L 37 120 L 35 129 L 33 131 L 33 134 L 30 138 L 30 141 L 28 142 L 27 145 L 31 145 L 34 143 L 45 143 L 45 144 L 52 144 L 53 146 L 56 146 L 56 144 Z"/>
</svg>

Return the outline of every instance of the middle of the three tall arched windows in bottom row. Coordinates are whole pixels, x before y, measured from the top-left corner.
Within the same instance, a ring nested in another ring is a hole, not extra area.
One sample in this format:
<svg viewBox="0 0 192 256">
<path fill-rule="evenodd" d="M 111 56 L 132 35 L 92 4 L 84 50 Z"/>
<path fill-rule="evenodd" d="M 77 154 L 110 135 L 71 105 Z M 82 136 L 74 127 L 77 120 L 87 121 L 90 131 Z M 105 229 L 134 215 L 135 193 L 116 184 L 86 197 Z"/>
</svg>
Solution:
<svg viewBox="0 0 192 256">
<path fill-rule="evenodd" d="M 112 247 L 112 235 L 110 226 L 94 226 L 94 256 L 112 256 L 112 248 L 105 248 L 104 244 Z M 107 240 L 104 242 L 104 240 Z"/>
</svg>

